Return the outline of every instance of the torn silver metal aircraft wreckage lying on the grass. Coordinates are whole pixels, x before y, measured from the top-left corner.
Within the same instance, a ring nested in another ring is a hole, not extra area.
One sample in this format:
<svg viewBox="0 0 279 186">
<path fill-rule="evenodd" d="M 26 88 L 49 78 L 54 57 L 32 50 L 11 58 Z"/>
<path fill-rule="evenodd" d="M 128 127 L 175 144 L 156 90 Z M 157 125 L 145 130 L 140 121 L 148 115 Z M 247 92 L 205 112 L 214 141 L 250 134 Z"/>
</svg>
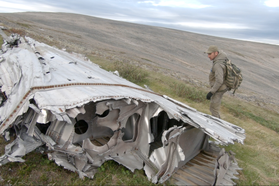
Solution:
<svg viewBox="0 0 279 186">
<path fill-rule="evenodd" d="M 172 176 L 176 185 L 234 185 L 234 153 L 215 144 L 243 144 L 242 128 L 143 89 L 85 55 L 3 37 L 0 134 L 17 138 L 0 165 L 24 162 L 37 149 L 82 179 L 114 160 L 143 168 L 153 183 Z"/>
</svg>

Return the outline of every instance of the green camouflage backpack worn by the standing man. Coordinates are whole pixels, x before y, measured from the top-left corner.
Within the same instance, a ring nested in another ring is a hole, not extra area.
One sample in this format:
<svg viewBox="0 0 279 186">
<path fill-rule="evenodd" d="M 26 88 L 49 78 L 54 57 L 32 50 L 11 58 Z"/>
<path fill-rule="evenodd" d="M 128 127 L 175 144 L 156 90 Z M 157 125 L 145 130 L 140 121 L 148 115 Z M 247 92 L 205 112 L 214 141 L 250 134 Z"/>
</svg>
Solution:
<svg viewBox="0 0 279 186">
<path fill-rule="evenodd" d="M 226 61 L 220 61 L 217 63 L 222 63 L 226 65 L 227 68 L 227 74 L 225 76 L 225 84 L 231 88 L 234 89 L 233 94 L 235 93 L 235 90 L 238 89 L 240 84 L 242 83 L 243 77 L 241 74 L 241 70 L 234 65 L 231 60 Z"/>
</svg>

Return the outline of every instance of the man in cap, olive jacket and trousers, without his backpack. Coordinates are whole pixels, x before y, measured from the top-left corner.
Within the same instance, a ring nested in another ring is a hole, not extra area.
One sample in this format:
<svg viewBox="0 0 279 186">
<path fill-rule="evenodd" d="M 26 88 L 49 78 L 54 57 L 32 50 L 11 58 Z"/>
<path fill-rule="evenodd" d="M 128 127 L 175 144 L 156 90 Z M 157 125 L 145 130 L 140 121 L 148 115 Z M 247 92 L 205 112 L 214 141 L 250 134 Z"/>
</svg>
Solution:
<svg viewBox="0 0 279 186">
<path fill-rule="evenodd" d="M 209 74 L 210 92 L 207 93 L 206 98 L 210 99 L 210 112 L 212 116 L 220 118 L 220 106 L 223 94 L 229 90 L 225 84 L 225 76 L 227 69 L 224 61 L 228 60 L 227 54 L 219 51 L 217 46 L 210 46 L 204 53 L 208 54 L 208 58 L 213 62 Z"/>
</svg>

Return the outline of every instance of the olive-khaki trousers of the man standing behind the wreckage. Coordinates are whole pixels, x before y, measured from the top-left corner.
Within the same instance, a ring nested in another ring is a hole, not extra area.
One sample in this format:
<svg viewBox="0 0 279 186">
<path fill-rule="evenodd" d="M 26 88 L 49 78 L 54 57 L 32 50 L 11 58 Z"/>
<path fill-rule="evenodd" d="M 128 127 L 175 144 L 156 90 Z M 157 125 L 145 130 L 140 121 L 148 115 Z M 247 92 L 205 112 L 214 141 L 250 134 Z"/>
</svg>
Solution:
<svg viewBox="0 0 279 186">
<path fill-rule="evenodd" d="M 223 98 L 224 93 L 226 93 L 229 90 L 229 88 L 223 90 L 223 91 L 218 91 L 214 93 L 210 99 L 210 112 L 212 116 L 216 118 L 220 118 L 220 106 L 221 106 L 221 101 Z"/>
</svg>

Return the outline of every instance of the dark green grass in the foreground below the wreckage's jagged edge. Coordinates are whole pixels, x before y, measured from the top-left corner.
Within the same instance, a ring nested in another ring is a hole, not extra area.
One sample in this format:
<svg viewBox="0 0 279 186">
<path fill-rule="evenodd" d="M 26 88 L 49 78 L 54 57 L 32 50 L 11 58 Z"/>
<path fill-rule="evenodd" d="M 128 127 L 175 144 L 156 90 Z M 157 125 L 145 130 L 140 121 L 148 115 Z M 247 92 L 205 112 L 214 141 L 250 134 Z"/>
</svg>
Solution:
<svg viewBox="0 0 279 186">
<path fill-rule="evenodd" d="M 154 185 L 148 181 L 143 170 L 132 173 L 113 160 L 106 161 L 99 167 L 93 180 L 82 180 L 77 173 L 49 161 L 46 155 L 31 152 L 23 159 L 26 159 L 24 163 L 12 162 L 1 166 L 0 177 L 4 180 L 1 185 Z M 169 182 L 165 184 L 169 185 Z"/>
</svg>

